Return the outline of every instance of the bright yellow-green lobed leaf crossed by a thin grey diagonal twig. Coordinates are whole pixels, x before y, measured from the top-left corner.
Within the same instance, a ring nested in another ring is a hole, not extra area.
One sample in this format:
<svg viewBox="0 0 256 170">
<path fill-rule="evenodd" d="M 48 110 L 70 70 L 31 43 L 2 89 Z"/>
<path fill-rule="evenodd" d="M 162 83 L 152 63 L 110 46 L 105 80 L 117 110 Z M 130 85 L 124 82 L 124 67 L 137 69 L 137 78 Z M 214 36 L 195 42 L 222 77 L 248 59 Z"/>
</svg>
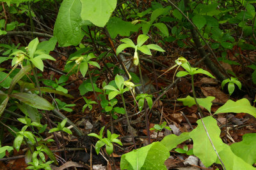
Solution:
<svg viewBox="0 0 256 170">
<path fill-rule="evenodd" d="M 205 117 L 202 120 L 204 121 L 214 147 L 217 152 L 220 152 L 223 149 L 223 142 L 220 138 L 220 128 L 218 127 L 216 120 L 213 117 Z M 216 152 L 212 148 L 201 120 L 197 120 L 196 123 L 198 126 L 189 134 L 194 143 L 193 152 L 196 157 L 203 162 L 204 166 L 209 167 L 216 162 L 218 158 Z"/>
</svg>

